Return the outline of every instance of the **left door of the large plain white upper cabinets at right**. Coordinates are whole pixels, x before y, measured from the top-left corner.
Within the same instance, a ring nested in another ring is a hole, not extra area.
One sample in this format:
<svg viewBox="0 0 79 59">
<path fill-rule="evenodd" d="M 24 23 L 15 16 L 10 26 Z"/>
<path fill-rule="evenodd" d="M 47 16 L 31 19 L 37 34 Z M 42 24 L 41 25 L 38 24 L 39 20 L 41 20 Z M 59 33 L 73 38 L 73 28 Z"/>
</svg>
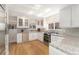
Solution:
<svg viewBox="0 0 79 59">
<path fill-rule="evenodd" d="M 60 11 L 60 27 L 71 27 L 71 6 Z"/>
</svg>

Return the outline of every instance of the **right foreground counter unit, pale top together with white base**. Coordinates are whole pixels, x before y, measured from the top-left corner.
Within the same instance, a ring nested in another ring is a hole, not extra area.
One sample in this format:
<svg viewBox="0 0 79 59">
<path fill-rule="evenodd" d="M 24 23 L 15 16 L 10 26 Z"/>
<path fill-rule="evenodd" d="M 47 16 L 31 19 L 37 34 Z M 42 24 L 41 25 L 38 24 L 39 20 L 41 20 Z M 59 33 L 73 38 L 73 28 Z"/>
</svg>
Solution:
<svg viewBox="0 0 79 59">
<path fill-rule="evenodd" d="M 51 39 L 51 43 L 49 44 L 49 46 L 51 46 L 52 48 L 55 48 L 55 50 L 52 49 L 52 51 L 55 52 L 55 54 L 58 53 L 57 50 L 62 52 L 60 53 L 60 55 L 63 53 L 67 55 L 79 54 L 79 37 L 78 36 L 72 36 L 67 33 L 51 35 L 51 36 L 55 36 L 57 38 L 56 41 L 57 40 L 59 41 L 59 42 L 56 42 L 54 39 Z M 61 38 L 58 38 L 58 37 L 61 37 Z M 51 50 L 50 47 L 49 47 L 49 50 Z M 53 52 L 50 54 L 54 54 Z"/>
</svg>

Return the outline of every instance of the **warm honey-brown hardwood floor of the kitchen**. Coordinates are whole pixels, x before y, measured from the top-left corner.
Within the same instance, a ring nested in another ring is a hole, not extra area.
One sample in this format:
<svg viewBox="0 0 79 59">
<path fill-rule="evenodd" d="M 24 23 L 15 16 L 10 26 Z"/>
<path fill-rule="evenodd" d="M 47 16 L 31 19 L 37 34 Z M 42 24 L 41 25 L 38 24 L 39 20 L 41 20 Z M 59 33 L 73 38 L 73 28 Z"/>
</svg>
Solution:
<svg viewBox="0 0 79 59">
<path fill-rule="evenodd" d="M 48 46 L 38 40 L 10 44 L 10 55 L 48 55 Z"/>
</svg>

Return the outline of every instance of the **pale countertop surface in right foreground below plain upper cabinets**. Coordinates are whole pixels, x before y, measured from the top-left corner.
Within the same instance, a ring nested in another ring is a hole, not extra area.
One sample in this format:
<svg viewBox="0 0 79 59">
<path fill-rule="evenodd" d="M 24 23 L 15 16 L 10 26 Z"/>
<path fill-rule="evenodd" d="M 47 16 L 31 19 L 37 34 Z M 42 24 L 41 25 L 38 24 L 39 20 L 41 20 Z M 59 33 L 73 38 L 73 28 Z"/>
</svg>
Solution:
<svg viewBox="0 0 79 59">
<path fill-rule="evenodd" d="M 53 42 L 51 43 L 51 45 L 65 51 L 68 52 L 69 54 L 79 54 L 79 37 L 77 36 L 71 36 L 65 33 L 62 34 L 58 34 L 55 36 L 60 36 L 63 37 L 64 39 L 62 40 L 62 42 L 60 43 L 60 45 L 54 45 Z"/>
</svg>

